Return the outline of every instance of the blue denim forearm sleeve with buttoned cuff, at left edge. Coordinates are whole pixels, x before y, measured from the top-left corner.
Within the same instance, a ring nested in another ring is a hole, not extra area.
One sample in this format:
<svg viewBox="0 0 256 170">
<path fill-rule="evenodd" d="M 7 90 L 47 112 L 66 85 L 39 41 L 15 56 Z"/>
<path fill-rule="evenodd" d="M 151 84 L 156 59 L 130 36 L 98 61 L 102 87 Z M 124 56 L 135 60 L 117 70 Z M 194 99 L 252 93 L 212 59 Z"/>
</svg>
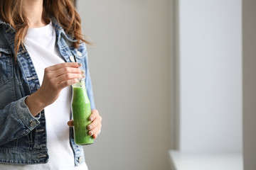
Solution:
<svg viewBox="0 0 256 170">
<path fill-rule="evenodd" d="M 30 113 L 25 99 L 13 101 L 0 110 L 0 146 L 28 135 L 39 125 L 39 118 Z"/>
</svg>

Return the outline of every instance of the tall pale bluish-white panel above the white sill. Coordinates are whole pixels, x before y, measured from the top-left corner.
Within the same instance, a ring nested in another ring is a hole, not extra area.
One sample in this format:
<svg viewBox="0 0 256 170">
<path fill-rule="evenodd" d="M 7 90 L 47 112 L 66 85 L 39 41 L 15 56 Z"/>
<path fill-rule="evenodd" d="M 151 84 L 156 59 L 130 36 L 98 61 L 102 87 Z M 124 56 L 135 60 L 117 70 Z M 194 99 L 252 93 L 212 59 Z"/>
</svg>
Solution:
<svg viewBox="0 0 256 170">
<path fill-rule="evenodd" d="M 241 0 L 180 0 L 180 149 L 242 150 Z"/>
</svg>

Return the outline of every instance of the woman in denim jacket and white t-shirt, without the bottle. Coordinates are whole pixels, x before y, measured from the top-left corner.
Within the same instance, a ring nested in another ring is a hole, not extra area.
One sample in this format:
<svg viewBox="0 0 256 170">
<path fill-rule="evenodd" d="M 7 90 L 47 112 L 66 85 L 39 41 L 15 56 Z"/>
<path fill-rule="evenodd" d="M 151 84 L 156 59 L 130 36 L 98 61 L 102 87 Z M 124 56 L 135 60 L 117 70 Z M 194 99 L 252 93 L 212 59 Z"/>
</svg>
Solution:
<svg viewBox="0 0 256 170">
<path fill-rule="evenodd" d="M 0 0 L 0 169 L 87 169 L 68 127 L 85 79 L 89 134 L 101 128 L 85 42 L 71 0 Z"/>
</svg>

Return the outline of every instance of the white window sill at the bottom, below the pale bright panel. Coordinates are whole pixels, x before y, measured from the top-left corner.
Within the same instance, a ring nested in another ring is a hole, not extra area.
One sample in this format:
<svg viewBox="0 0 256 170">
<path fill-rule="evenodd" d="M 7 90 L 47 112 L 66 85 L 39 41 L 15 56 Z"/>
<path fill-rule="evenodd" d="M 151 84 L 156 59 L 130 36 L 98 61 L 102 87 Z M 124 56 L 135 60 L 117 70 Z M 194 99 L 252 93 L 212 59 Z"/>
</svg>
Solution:
<svg viewBox="0 0 256 170">
<path fill-rule="evenodd" d="M 242 153 L 197 153 L 170 151 L 175 169 L 171 170 L 242 170 Z"/>
</svg>

